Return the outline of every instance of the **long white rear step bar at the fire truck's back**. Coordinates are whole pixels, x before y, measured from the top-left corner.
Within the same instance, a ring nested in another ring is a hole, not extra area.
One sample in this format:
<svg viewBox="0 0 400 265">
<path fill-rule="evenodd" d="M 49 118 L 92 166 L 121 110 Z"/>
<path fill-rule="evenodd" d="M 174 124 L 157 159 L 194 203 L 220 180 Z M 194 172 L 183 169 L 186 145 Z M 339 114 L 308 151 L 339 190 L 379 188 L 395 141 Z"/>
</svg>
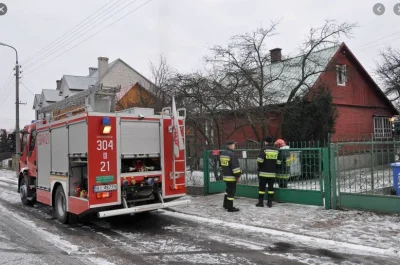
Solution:
<svg viewBox="0 0 400 265">
<path fill-rule="evenodd" d="M 130 207 L 130 208 L 98 212 L 97 217 L 105 218 L 105 217 L 111 217 L 111 216 L 117 216 L 117 215 L 140 213 L 140 212 L 152 211 L 152 210 L 163 209 L 163 208 L 168 208 L 168 207 L 173 207 L 173 206 L 186 205 L 189 203 L 190 203 L 190 200 L 176 200 L 176 201 L 166 202 L 166 203 L 147 204 L 147 205 L 141 205 L 141 206 Z"/>
</svg>

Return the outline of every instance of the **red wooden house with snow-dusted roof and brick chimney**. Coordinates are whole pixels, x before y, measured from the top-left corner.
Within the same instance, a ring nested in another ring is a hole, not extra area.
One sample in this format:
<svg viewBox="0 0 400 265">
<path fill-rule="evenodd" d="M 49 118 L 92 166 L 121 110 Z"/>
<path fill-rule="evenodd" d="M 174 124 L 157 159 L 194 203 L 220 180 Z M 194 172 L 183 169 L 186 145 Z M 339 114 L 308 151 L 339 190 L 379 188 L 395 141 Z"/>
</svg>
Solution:
<svg viewBox="0 0 400 265">
<path fill-rule="evenodd" d="M 295 85 L 301 77 L 302 69 L 299 62 L 303 56 L 282 60 L 281 49 L 274 49 L 271 50 L 271 58 L 272 63 L 268 70 L 273 73 L 285 69 L 282 73 L 285 83 L 281 80 L 273 82 L 268 89 L 281 93 L 280 98 L 284 103 L 291 91 L 291 82 Z M 286 68 L 282 68 L 283 65 L 286 65 Z M 342 43 L 312 53 L 306 68 L 316 74 L 307 78 L 298 94 L 307 95 L 317 87 L 325 85 L 330 89 L 333 104 L 338 110 L 339 117 L 331 141 L 359 140 L 371 138 L 372 135 L 374 139 L 392 137 L 391 119 L 399 112 L 346 44 Z M 283 87 L 288 89 L 284 91 Z M 275 135 L 280 123 L 279 112 L 268 112 L 265 119 L 268 119 L 267 134 Z M 237 115 L 232 116 L 229 112 L 221 119 L 220 127 L 223 128 L 221 142 L 226 139 L 234 139 L 239 143 L 257 140 L 254 129 L 246 120 Z M 213 126 L 210 126 L 206 133 L 213 137 L 216 135 Z"/>
</svg>

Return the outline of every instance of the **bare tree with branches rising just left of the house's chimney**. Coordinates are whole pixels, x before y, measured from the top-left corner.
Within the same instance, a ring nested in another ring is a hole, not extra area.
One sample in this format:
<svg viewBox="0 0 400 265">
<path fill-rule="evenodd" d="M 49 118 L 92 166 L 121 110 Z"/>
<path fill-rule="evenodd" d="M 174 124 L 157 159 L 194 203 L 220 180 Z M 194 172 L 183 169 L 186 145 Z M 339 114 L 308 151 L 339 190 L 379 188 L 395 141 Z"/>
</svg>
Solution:
<svg viewBox="0 0 400 265">
<path fill-rule="evenodd" d="M 267 133 L 264 113 L 276 103 L 279 90 L 268 85 L 280 79 L 284 67 L 272 69 L 271 57 L 266 49 L 267 39 L 275 34 L 278 22 L 268 28 L 233 36 L 228 47 L 214 46 L 207 57 L 214 68 L 227 73 L 235 89 L 227 98 L 227 105 L 239 110 L 261 141 Z"/>
</svg>

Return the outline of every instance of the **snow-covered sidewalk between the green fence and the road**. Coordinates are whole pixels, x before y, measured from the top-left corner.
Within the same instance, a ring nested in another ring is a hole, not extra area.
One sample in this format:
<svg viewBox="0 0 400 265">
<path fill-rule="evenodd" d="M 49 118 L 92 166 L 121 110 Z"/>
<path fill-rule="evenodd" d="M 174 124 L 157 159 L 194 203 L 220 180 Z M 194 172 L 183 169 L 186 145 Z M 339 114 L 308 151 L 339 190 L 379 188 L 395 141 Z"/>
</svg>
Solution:
<svg viewBox="0 0 400 265">
<path fill-rule="evenodd" d="M 272 208 L 258 208 L 256 200 L 236 198 L 240 212 L 222 208 L 223 194 L 192 197 L 192 203 L 173 210 L 194 216 L 257 226 L 387 250 L 400 255 L 400 215 L 382 215 L 360 211 L 325 210 L 323 207 L 274 203 Z"/>
</svg>

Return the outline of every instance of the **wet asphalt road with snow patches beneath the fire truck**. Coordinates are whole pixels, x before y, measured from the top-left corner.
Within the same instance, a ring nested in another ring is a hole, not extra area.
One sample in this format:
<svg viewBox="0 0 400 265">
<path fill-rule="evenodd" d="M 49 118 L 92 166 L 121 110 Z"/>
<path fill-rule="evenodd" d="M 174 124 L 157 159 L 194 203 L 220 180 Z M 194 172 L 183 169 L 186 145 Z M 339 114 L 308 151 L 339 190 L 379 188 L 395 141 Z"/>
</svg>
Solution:
<svg viewBox="0 0 400 265">
<path fill-rule="evenodd" d="M 163 211 L 71 227 L 47 206 L 23 206 L 11 182 L 0 185 L 0 264 L 398 264 L 288 242 Z"/>
</svg>

